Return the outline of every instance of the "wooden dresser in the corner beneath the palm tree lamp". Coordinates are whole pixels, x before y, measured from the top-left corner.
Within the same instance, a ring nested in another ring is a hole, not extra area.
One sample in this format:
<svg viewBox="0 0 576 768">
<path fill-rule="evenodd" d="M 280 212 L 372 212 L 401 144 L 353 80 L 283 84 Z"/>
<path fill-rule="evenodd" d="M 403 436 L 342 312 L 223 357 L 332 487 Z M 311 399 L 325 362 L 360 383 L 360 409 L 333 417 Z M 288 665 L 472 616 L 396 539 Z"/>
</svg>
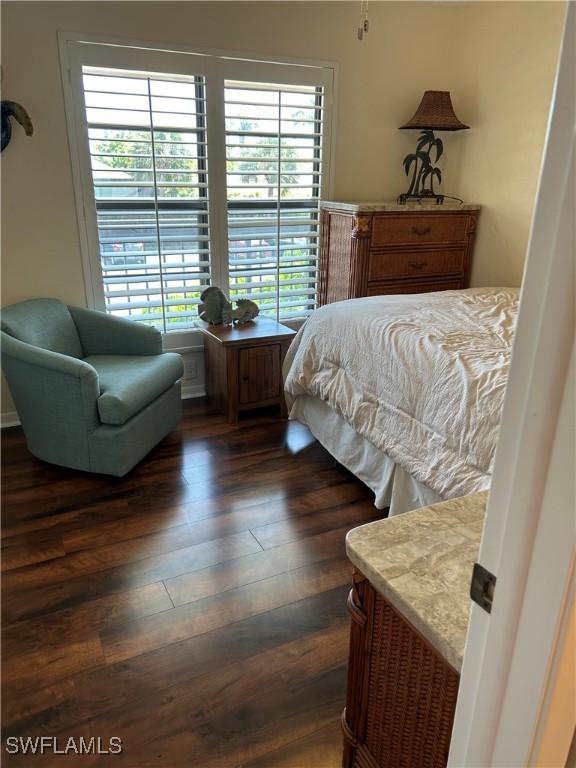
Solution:
<svg viewBox="0 0 576 768">
<path fill-rule="evenodd" d="M 478 205 L 321 203 L 318 303 L 467 288 Z"/>
</svg>

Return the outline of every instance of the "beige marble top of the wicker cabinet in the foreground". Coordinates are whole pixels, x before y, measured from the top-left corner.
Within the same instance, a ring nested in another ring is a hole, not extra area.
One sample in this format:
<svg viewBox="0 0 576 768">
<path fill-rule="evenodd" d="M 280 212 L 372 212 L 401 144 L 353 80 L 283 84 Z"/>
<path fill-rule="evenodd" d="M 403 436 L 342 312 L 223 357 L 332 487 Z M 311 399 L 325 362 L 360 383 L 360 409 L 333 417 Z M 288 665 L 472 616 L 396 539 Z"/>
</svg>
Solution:
<svg viewBox="0 0 576 768">
<path fill-rule="evenodd" d="M 346 537 L 356 568 L 457 671 L 487 498 L 484 492 L 440 502 L 362 525 Z"/>
</svg>

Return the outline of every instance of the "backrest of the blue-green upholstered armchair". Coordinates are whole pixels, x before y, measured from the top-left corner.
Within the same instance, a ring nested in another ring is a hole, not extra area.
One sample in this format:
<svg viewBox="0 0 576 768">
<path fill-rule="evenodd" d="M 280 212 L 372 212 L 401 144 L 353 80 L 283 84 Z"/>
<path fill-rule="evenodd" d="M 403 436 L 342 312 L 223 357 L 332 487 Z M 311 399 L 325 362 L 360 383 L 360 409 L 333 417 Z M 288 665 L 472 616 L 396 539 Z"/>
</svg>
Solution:
<svg viewBox="0 0 576 768">
<path fill-rule="evenodd" d="M 35 347 L 83 357 L 76 324 L 58 299 L 29 299 L 2 309 L 2 330 Z"/>
</svg>

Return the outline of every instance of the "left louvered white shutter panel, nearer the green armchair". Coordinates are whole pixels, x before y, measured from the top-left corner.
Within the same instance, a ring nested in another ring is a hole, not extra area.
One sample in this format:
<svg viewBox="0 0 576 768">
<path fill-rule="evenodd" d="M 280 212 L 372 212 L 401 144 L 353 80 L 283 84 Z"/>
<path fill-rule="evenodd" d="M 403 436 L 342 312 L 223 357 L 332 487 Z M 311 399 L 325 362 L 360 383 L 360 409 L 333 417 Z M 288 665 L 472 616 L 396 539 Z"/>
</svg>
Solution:
<svg viewBox="0 0 576 768">
<path fill-rule="evenodd" d="M 105 308 L 190 327 L 210 279 L 204 77 L 82 75 Z"/>
</svg>

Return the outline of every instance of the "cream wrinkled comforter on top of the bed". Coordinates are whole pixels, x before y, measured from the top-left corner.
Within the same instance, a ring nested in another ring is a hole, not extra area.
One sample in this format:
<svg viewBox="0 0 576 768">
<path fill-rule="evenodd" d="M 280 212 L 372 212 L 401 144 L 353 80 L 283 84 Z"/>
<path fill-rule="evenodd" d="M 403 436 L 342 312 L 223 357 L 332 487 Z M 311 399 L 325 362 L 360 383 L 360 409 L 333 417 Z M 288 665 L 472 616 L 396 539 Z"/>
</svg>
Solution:
<svg viewBox="0 0 576 768">
<path fill-rule="evenodd" d="M 320 398 L 445 499 L 485 490 L 517 309 L 511 288 L 321 307 L 286 357 L 288 405 Z"/>
</svg>

